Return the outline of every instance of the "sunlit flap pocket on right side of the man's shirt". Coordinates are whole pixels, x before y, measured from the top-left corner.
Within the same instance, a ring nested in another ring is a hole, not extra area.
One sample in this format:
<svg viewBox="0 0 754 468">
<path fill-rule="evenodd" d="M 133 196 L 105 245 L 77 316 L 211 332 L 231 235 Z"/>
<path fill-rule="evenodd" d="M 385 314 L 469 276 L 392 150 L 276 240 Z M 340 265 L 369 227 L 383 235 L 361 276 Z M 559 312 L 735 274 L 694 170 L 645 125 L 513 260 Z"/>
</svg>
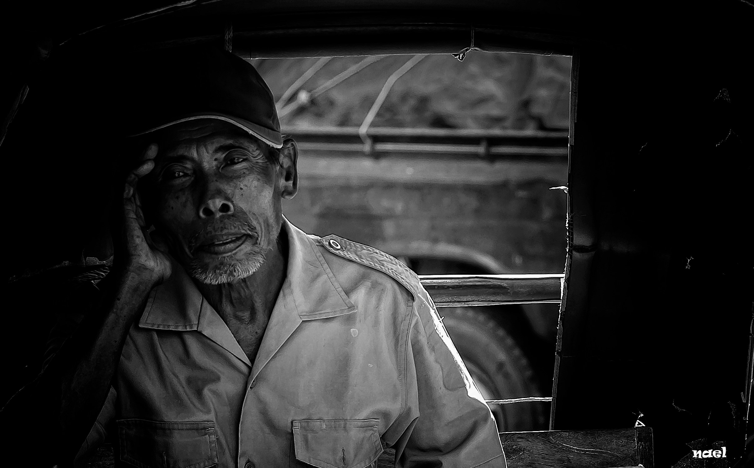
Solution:
<svg viewBox="0 0 754 468">
<path fill-rule="evenodd" d="M 379 420 L 293 421 L 293 449 L 296 460 L 318 468 L 366 468 L 382 454 Z"/>
</svg>

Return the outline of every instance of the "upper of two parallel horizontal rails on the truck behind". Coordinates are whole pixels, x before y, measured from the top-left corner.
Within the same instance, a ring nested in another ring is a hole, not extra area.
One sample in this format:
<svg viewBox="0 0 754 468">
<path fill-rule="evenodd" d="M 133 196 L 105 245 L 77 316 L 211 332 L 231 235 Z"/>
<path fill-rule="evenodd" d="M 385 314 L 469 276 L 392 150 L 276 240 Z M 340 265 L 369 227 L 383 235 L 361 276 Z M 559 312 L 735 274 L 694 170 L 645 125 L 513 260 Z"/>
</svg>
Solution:
<svg viewBox="0 0 754 468">
<path fill-rule="evenodd" d="M 283 133 L 294 136 L 359 136 L 359 127 L 284 127 Z M 424 136 L 453 138 L 547 138 L 566 139 L 568 131 L 467 129 L 467 128 L 400 128 L 369 127 L 367 136 Z"/>
</svg>

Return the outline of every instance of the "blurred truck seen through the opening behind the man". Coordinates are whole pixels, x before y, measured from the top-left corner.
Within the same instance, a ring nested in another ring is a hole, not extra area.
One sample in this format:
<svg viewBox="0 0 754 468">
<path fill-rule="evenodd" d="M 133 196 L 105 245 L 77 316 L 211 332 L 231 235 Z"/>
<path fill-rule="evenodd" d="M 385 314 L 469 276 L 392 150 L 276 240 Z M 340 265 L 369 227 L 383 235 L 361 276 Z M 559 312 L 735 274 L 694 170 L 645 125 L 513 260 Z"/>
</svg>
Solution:
<svg viewBox="0 0 754 468">
<path fill-rule="evenodd" d="M 299 143 L 284 213 L 417 274 L 559 273 L 570 57 L 472 52 L 252 60 Z M 486 399 L 551 396 L 559 304 L 443 307 Z M 547 402 L 492 405 L 546 430 Z"/>
</svg>

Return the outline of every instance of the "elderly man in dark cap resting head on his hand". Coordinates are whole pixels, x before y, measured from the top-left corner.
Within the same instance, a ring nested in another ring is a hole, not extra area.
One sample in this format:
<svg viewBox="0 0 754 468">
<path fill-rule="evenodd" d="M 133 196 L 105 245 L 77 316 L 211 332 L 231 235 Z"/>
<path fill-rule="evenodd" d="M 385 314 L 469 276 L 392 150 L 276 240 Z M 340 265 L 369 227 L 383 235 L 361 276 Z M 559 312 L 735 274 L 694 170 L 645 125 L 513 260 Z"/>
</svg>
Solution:
<svg viewBox="0 0 754 468">
<path fill-rule="evenodd" d="M 505 466 L 415 274 L 284 218 L 296 144 L 253 66 L 208 50 L 171 72 L 185 59 L 145 70 L 112 300 L 59 372 L 60 418 L 92 427 L 78 463 L 109 437 L 121 466 L 364 468 L 385 447 L 397 466 Z"/>
</svg>

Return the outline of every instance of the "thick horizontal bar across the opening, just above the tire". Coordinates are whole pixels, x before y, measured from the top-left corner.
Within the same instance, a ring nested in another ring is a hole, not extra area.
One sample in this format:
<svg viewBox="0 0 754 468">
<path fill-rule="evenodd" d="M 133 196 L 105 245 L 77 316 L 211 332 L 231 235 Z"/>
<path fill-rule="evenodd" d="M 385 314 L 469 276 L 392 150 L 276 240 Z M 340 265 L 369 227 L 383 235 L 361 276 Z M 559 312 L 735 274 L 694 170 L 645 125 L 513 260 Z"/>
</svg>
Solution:
<svg viewBox="0 0 754 468">
<path fill-rule="evenodd" d="M 420 275 L 437 307 L 560 302 L 564 274 Z"/>
</svg>

